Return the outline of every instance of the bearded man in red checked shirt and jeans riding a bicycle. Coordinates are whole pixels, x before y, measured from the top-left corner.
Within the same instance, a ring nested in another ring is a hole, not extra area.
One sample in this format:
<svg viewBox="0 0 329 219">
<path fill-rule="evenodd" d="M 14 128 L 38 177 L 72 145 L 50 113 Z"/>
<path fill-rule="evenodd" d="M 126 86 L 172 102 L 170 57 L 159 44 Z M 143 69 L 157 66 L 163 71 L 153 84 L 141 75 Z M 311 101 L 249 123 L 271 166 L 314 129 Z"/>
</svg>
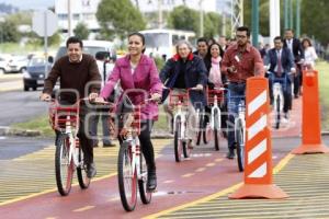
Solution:
<svg viewBox="0 0 329 219">
<path fill-rule="evenodd" d="M 245 96 L 246 80 L 253 76 L 263 77 L 264 67 L 261 55 L 250 44 L 250 31 L 247 26 L 240 26 L 236 31 L 237 43 L 228 47 L 222 61 L 222 71 L 227 74 L 228 90 L 231 96 Z M 229 100 L 228 114 L 228 159 L 235 158 L 235 115 L 238 113 L 239 99 Z"/>
</svg>

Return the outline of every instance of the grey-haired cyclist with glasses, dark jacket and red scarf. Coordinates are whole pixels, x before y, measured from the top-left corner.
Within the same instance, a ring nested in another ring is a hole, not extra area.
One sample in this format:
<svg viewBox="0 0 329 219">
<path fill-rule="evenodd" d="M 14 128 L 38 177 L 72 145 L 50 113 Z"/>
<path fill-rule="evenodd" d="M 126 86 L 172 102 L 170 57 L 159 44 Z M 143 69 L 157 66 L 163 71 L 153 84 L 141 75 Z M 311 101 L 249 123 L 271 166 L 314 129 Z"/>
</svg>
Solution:
<svg viewBox="0 0 329 219">
<path fill-rule="evenodd" d="M 188 139 L 189 148 L 193 147 L 192 139 L 195 132 L 195 108 L 202 110 L 206 105 L 205 95 L 203 92 L 206 84 L 206 67 L 201 57 L 192 54 L 192 46 L 186 41 L 181 41 L 175 46 L 177 54 L 169 59 L 160 72 L 160 79 L 166 88 L 172 89 L 171 92 L 175 95 L 186 93 L 186 89 L 195 89 L 198 91 L 190 92 L 189 103 L 189 122 L 188 123 Z M 168 90 L 164 90 L 162 100 L 166 100 Z M 171 125 L 173 123 L 172 108 L 168 101 L 164 102 L 164 111 L 171 116 Z M 194 122 L 194 123 L 193 123 Z M 171 126 L 172 127 L 172 126 Z"/>
</svg>

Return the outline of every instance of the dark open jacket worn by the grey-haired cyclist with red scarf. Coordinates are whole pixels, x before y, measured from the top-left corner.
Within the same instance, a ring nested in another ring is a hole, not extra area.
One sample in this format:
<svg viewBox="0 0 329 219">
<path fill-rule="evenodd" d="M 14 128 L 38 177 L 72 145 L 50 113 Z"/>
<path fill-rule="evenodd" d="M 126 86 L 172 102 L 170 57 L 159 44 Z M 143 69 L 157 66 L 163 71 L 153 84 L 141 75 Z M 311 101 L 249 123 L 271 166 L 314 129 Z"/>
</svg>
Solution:
<svg viewBox="0 0 329 219">
<path fill-rule="evenodd" d="M 174 82 L 179 76 L 181 69 L 181 62 L 179 61 L 180 57 L 178 55 L 173 56 L 169 59 L 164 67 L 160 71 L 160 79 L 162 83 L 171 89 L 174 85 Z M 206 67 L 204 61 L 198 56 L 190 54 L 188 57 L 186 64 L 186 74 L 185 74 L 185 85 L 186 88 L 194 88 L 197 84 L 206 85 L 207 77 L 206 77 Z M 169 94 L 168 90 L 163 90 L 162 93 L 162 102 L 167 99 Z M 204 92 L 202 91 L 192 91 L 190 100 L 192 104 L 197 102 L 202 102 L 203 105 L 206 105 L 206 99 Z M 200 105 L 200 104 L 197 104 Z"/>
</svg>

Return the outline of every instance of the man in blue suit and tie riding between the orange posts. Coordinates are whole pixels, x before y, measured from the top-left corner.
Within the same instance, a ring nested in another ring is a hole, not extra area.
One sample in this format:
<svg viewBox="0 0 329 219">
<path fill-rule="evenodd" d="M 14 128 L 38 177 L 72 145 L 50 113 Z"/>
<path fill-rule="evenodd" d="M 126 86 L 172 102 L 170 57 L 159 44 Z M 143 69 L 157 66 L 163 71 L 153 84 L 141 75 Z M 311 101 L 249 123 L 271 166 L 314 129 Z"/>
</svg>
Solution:
<svg viewBox="0 0 329 219">
<path fill-rule="evenodd" d="M 277 81 L 283 88 L 284 116 L 287 119 L 287 112 L 292 105 L 292 82 L 293 78 L 290 72 L 296 73 L 294 58 L 292 51 L 287 47 L 283 47 L 283 38 L 276 36 L 274 38 L 274 48 L 270 49 L 265 59 L 265 65 L 270 71 L 270 99 L 273 103 L 273 82 Z"/>
</svg>

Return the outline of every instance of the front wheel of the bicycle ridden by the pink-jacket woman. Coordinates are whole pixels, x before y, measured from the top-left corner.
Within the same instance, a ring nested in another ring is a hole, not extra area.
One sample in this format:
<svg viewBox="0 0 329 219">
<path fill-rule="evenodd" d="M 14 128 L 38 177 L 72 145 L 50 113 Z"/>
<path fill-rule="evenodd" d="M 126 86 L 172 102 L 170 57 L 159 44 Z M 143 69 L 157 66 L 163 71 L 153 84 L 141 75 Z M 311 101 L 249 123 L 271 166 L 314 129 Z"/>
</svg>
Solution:
<svg viewBox="0 0 329 219">
<path fill-rule="evenodd" d="M 126 211 L 134 210 L 137 203 L 137 172 L 132 161 L 131 145 L 123 142 L 117 159 L 117 182 L 121 203 Z"/>
</svg>

